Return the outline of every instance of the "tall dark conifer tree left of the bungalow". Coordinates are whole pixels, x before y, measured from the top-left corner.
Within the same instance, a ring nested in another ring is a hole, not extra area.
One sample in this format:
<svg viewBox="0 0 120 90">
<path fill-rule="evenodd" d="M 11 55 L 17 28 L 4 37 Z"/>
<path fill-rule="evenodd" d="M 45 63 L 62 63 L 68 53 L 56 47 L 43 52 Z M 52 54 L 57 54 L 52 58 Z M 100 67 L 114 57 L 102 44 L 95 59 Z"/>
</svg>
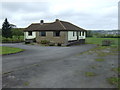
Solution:
<svg viewBox="0 0 120 90">
<path fill-rule="evenodd" d="M 12 38 L 11 25 L 7 21 L 7 18 L 2 25 L 2 36 L 6 38 Z"/>
</svg>

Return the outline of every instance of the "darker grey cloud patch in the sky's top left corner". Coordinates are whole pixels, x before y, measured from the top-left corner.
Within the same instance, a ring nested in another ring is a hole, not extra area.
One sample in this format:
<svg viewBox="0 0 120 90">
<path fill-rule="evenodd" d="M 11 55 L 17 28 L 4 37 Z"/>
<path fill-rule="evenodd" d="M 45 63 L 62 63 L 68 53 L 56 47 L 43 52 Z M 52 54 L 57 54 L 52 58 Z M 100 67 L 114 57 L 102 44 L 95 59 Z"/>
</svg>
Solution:
<svg viewBox="0 0 120 90">
<path fill-rule="evenodd" d="M 9 11 L 9 12 L 40 12 L 48 10 L 48 3 L 47 2 L 3 2 L 2 8 Z"/>
</svg>

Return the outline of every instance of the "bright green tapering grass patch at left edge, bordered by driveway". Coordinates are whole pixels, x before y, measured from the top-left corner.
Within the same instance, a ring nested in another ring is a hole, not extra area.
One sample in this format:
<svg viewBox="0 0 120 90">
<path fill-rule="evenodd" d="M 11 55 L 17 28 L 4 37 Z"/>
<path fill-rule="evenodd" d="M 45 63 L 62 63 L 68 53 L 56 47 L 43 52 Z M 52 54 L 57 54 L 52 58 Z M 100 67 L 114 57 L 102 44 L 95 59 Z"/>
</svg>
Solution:
<svg viewBox="0 0 120 90">
<path fill-rule="evenodd" d="M 17 53 L 21 51 L 24 51 L 24 49 L 0 46 L 0 55 L 12 54 L 12 53 Z"/>
</svg>

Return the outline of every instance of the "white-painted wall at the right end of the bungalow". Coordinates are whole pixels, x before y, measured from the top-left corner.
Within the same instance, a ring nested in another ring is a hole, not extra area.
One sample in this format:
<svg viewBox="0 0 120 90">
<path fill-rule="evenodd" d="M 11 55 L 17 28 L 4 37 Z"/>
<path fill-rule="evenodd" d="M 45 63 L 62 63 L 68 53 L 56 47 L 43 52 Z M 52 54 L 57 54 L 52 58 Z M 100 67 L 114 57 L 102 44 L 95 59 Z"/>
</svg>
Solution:
<svg viewBox="0 0 120 90">
<path fill-rule="evenodd" d="M 84 36 L 82 35 L 82 31 L 81 31 L 81 36 L 80 36 L 80 32 L 78 32 L 79 35 L 79 39 L 85 39 L 86 37 L 86 32 L 84 32 Z M 77 32 L 75 31 L 75 35 L 73 36 L 73 31 L 68 31 L 68 41 L 71 40 L 77 40 Z"/>
</svg>

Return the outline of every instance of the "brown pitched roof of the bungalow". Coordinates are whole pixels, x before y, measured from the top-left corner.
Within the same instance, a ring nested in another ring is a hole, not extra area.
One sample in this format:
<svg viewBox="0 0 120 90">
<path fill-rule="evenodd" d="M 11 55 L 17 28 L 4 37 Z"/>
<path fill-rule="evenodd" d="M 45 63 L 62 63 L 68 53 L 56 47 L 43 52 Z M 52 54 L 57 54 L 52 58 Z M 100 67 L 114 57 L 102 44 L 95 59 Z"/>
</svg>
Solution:
<svg viewBox="0 0 120 90">
<path fill-rule="evenodd" d="M 24 31 L 86 31 L 72 23 L 56 19 L 52 23 L 32 23 Z"/>
</svg>

